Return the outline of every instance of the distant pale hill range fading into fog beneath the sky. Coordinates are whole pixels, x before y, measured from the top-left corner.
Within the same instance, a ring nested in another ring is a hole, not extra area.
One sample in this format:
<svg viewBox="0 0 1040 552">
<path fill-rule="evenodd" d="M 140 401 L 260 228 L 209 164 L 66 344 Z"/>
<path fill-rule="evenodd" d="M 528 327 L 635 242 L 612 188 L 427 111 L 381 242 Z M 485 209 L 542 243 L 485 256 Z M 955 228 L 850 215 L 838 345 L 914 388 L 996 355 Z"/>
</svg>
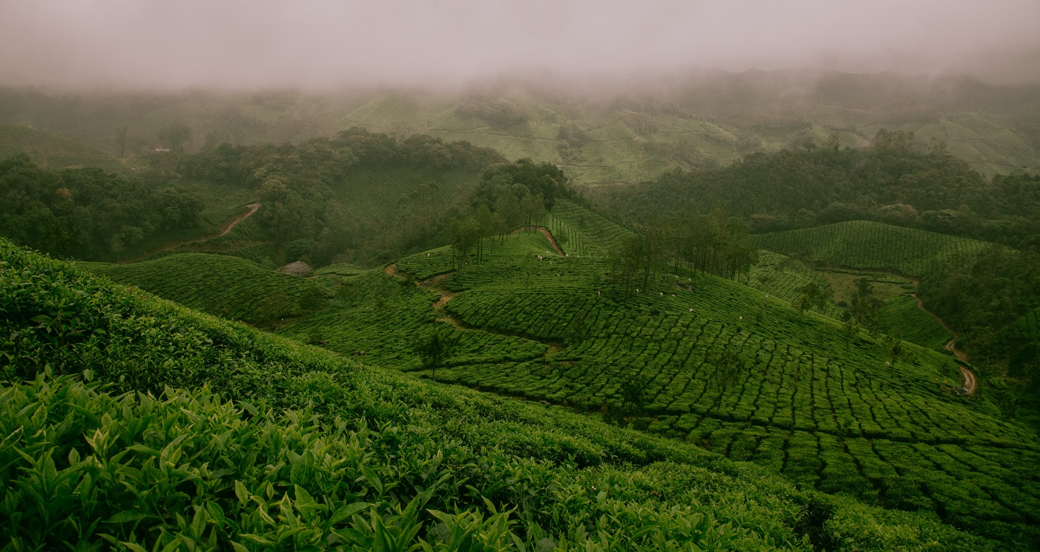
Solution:
<svg viewBox="0 0 1040 552">
<path fill-rule="evenodd" d="M 1031 85 L 970 78 L 816 71 L 704 72 L 636 85 L 515 81 L 461 95 L 422 91 L 76 95 L 0 90 L 0 122 L 33 125 L 118 152 L 141 153 L 186 125 L 192 150 L 222 141 L 300 141 L 360 125 L 494 148 L 511 159 L 562 164 L 579 184 L 649 180 L 754 152 L 869 143 L 881 128 L 934 137 L 984 175 L 1040 168 Z M 614 90 L 614 91 L 610 91 Z M 128 138 L 116 140 L 125 127 Z"/>
</svg>

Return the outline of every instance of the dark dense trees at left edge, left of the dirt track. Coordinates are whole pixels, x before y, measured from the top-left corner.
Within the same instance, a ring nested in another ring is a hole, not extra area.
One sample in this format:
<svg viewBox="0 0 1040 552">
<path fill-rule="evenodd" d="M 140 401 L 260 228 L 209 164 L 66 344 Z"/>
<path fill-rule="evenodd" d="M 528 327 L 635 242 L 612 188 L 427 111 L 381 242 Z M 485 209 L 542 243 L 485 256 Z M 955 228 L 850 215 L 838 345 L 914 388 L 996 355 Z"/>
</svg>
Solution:
<svg viewBox="0 0 1040 552">
<path fill-rule="evenodd" d="M 111 259 L 157 234 L 198 228 L 203 202 L 100 168 L 46 170 L 21 154 L 0 162 L 0 234 L 58 256 Z"/>
</svg>

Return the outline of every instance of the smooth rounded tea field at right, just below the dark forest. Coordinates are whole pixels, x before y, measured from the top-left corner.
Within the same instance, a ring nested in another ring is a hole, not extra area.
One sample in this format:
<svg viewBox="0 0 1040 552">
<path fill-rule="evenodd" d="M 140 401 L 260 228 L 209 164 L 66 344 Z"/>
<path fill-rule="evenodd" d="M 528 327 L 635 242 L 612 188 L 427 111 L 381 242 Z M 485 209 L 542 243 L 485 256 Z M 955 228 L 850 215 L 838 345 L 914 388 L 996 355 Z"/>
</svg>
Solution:
<svg viewBox="0 0 1040 552">
<path fill-rule="evenodd" d="M 921 275 L 942 263 L 969 259 L 989 243 L 935 232 L 851 220 L 752 236 L 755 246 L 818 263 Z"/>
</svg>

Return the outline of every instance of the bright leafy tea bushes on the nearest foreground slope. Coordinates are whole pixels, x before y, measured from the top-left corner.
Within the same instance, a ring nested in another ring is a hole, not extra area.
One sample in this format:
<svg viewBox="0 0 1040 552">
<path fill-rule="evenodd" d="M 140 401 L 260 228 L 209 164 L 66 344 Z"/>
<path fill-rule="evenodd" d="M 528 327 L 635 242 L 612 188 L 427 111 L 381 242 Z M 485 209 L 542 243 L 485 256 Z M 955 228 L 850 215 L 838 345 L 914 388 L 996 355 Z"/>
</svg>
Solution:
<svg viewBox="0 0 1040 552">
<path fill-rule="evenodd" d="M 1030 546 L 370 368 L 6 241 L 0 309 L 4 550 Z"/>
</svg>

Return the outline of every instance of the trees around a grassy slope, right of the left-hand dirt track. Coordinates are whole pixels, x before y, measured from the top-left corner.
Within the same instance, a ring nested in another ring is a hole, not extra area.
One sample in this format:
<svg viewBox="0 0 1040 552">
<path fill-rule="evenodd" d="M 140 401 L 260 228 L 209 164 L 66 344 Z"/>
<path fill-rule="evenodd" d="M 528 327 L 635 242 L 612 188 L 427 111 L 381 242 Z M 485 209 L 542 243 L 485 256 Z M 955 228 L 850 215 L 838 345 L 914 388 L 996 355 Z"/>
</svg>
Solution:
<svg viewBox="0 0 1040 552">
<path fill-rule="evenodd" d="M 350 218 L 335 189 L 352 175 L 399 167 L 427 174 L 475 174 L 501 161 L 494 150 L 466 141 L 445 142 L 427 135 L 399 140 L 354 127 L 334 138 L 300 144 L 224 143 L 181 157 L 178 173 L 189 180 L 255 189 L 261 204 L 257 218 L 281 244 L 286 260 L 365 263 L 442 242 L 448 219 L 465 206 L 452 204 L 452 198 L 443 196 L 438 183 L 431 181 L 401 196 L 386 212 Z"/>
</svg>

